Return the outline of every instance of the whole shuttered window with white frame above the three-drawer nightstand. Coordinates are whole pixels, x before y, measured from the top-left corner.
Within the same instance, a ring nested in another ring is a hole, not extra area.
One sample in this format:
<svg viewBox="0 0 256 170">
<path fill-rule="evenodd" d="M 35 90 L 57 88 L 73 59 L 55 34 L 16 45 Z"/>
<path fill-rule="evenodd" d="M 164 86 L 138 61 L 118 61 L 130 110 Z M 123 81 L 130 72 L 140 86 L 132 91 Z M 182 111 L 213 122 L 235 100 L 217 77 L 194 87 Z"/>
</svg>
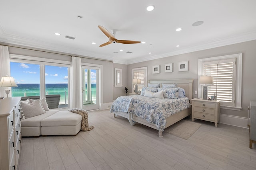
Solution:
<svg viewBox="0 0 256 170">
<path fill-rule="evenodd" d="M 241 109 L 242 54 L 198 60 L 198 77 L 212 76 L 214 84 L 208 86 L 208 96 L 217 94 L 222 108 Z M 198 85 L 202 95 L 202 85 Z"/>
</svg>

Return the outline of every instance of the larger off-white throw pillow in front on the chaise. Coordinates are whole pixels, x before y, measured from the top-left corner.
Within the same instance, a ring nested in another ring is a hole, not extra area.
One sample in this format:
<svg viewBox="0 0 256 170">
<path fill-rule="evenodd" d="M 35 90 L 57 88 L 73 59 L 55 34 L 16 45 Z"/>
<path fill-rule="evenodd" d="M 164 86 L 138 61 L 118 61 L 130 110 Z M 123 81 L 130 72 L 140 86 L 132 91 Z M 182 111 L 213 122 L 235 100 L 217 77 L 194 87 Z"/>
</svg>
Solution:
<svg viewBox="0 0 256 170">
<path fill-rule="evenodd" d="M 44 111 L 40 100 L 36 100 L 30 104 L 20 102 L 20 105 L 22 108 L 22 114 L 24 114 L 25 118 L 34 117 L 46 112 Z"/>
</svg>

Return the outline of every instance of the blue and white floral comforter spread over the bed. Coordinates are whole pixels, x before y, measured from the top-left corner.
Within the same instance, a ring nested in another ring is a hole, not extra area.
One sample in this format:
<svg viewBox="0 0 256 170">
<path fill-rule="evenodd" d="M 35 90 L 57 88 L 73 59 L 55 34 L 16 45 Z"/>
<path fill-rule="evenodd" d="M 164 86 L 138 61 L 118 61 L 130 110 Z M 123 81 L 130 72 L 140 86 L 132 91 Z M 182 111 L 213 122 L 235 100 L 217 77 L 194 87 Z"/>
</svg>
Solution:
<svg viewBox="0 0 256 170">
<path fill-rule="evenodd" d="M 164 131 L 166 118 L 187 108 L 190 108 L 188 98 L 159 99 L 134 95 L 117 98 L 111 106 L 110 113 L 130 112 Z"/>
</svg>

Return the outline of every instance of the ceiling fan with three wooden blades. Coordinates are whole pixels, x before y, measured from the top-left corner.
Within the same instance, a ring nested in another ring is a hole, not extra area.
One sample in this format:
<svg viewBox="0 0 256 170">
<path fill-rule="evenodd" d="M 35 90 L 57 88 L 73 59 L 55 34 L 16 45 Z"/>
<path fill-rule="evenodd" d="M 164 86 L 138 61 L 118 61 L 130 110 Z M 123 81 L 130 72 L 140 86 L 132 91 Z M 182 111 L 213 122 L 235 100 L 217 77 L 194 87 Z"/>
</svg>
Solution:
<svg viewBox="0 0 256 170">
<path fill-rule="evenodd" d="M 100 45 L 100 47 L 103 47 L 105 45 L 108 45 L 108 44 L 111 44 L 111 43 L 122 43 L 122 44 L 136 44 L 136 43 L 140 43 L 141 41 L 130 41 L 130 40 L 118 40 L 114 37 L 115 35 L 115 30 L 112 30 L 113 31 L 113 34 L 112 35 L 106 28 L 98 25 L 98 27 L 100 28 L 100 30 L 109 38 L 109 41 Z"/>
</svg>

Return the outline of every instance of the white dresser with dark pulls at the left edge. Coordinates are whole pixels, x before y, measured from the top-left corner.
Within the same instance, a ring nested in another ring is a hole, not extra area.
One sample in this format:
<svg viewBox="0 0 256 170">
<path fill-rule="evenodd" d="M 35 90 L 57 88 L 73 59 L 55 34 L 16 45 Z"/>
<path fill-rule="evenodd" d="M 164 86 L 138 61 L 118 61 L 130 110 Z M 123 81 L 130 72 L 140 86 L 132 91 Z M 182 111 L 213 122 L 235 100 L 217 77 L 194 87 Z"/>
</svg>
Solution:
<svg viewBox="0 0 256 170">
<path fill-rule="evenodd" d="M 0 170 L 16 170 L 20 156 L 20 97 L 0 100 Z"/>
</svg>

